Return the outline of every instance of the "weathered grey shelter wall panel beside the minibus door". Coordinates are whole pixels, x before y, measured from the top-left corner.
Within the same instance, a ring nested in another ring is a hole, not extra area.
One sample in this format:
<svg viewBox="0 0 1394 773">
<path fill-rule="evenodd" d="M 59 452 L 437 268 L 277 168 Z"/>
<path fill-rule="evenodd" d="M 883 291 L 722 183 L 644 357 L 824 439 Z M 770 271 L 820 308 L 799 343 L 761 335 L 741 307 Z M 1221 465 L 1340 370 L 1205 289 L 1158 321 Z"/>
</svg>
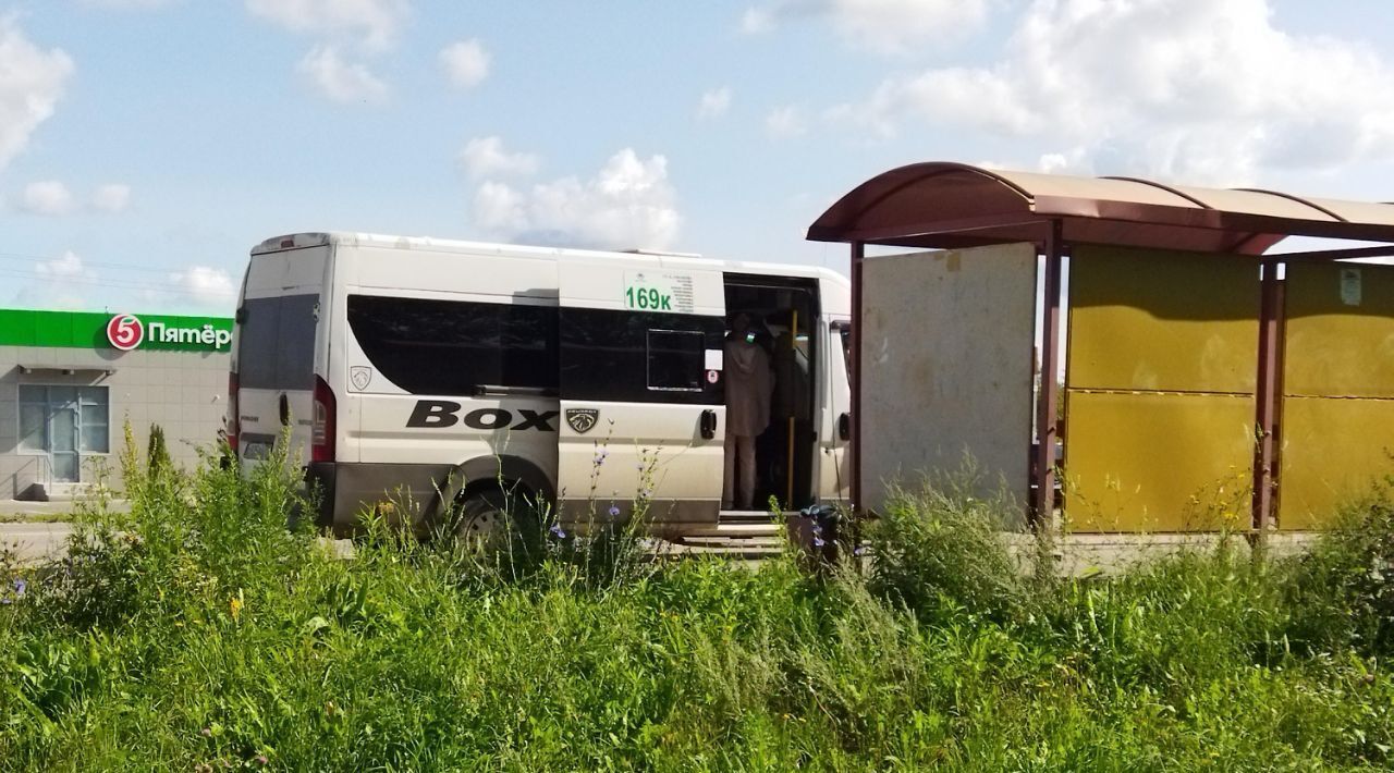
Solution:
<svg viewBox="0 0 1394 773">
<path fill-rule="evenodd" d="M 868 258 L 861 320 L 861 497 L 958 474 L 1026 489 L 1032 443 L 1036 247 Z M 1025 503 L 1022 503 L 1025 507 Z M 1025 510 L 1022 510 L 1025 517 Z"/>
</svg>

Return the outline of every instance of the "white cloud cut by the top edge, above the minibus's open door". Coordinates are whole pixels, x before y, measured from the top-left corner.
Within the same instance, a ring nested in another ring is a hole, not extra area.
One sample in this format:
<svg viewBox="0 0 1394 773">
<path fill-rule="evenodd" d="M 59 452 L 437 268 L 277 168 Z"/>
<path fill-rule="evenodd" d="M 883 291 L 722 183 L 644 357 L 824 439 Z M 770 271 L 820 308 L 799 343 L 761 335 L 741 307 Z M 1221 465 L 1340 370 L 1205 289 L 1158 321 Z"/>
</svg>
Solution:
<svg viewBox="0 0 1394 773">
<path fill-rule="evenodd" d="M 988 0 L 765 0 L 742 14 L 740 31 L 758 35 L 795 18 L 827 18 L 859 49 L 905 54 L 962 38 L 987 10 Z"/>
</svg>

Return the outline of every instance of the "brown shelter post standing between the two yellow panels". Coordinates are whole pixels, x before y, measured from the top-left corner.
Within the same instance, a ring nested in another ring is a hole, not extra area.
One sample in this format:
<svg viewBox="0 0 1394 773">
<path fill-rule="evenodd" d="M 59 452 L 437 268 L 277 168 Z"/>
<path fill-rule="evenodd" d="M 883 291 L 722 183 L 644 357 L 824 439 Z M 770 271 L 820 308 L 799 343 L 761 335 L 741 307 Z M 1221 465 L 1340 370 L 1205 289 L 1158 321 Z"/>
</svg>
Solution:
<svg viewBox="0 0 1394 773">
<path fill-rule="evenodd" d="M 1263 263 L 1259 301 L 1259 377 L 1253 448 L 1253 528 L 1273 528 L 1277 493 L 1278 394 L 1282 390 L 1282 283 L 1278 262 Z"/>
</svg>

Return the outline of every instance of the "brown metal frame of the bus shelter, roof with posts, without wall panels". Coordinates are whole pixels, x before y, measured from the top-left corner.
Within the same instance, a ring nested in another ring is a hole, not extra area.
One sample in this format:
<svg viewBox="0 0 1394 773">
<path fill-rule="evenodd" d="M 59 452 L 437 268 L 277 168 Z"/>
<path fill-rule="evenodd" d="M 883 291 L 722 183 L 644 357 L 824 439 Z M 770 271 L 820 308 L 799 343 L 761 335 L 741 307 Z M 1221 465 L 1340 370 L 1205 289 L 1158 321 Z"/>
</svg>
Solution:
<svg viewBox="0 0 1394 773">
<path fill-rule="evenodd" d="M 1267 253 L 1294 235 L 1386 242 L 1376 247 Z M 1064 258 L 1073 244 L 1255 256 L 1260 272 L 1252 524 L 1274 525 L 1282 390 L 1281 266 L 1394 256 L 1394 203 L 1295 196 L 1256 188 L 1193 188 L 1136 177 L 1068 177 L 920 163 L 878 174 L 848 192 L 810 227 L 810 241 L 850 244 L 852 503 L 861 492 L 861 320 L 867 245 L 955 249 L 1032 242 L 1044 260 L 1037 443 L 1032 448 L 1030 513 L 1054 510 Z"/>
</svg>

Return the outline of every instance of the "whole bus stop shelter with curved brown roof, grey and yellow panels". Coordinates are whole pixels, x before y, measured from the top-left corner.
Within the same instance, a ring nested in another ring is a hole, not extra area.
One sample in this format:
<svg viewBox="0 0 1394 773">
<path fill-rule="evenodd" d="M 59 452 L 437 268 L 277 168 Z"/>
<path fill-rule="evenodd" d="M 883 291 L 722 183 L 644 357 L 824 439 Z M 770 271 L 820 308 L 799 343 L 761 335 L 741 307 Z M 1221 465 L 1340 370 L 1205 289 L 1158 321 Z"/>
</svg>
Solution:
<svg viewBox="0 0 1394 773">
<path fill-rule="evenodd" d="M 1394 203 L 919 163 L 809 240 L 850 245 L 863 510 L 969 455 L 1079 532 L 1301 531 L 1394 471 L 1394 266 L 1352 262 Z"/>
</svg>

